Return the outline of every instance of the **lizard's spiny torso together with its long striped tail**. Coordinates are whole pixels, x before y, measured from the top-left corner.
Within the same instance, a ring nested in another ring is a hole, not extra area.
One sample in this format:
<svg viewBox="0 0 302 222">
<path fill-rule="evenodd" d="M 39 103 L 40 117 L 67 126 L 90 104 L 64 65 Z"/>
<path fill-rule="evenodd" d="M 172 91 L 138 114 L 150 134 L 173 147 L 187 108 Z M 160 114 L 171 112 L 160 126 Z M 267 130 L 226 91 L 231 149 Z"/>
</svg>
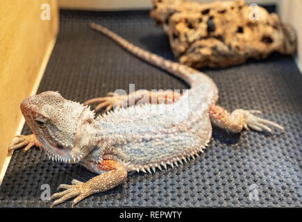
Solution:
<svg viewBox="0 0 302 222">
<path fill-rule="evenodd" d="M 212 79 L 196 69 L 144 51 L 103 26 L 91 27 L 135 56 L 182 78 L 191 87 L 173 104 L 135 105 L 99 117 L 95 127 L 109 141 L 104 144 L 103 158 L 123 163 L 128 171 L 150 172 L 198 155 L 212 135 L 208 108 L 218 99 Z"/>
</svg>

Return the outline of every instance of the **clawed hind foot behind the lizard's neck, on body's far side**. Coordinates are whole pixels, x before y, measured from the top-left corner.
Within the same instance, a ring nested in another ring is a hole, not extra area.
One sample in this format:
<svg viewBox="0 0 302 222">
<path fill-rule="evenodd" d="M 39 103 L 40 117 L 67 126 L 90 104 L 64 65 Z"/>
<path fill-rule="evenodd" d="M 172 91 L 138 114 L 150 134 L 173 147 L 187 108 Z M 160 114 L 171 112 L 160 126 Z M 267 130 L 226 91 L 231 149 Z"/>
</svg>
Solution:
<svg viewBox="0 0 302 222">
<path fill-rule="evenodd" d="M 98 97 L 94 99 L 90 99 L 84 103 L 84 105 L 90 103 L 99 103 L 97 107 L 94 109 L 96 111 L 101 110 L 101 108 L 106 107 L 106 111 L 111 110 L 112 108 L 121 108 L 122 106 L 127 105 L 128 96 L 115 94 L 113 92 L 108 92 L 108 96 L 106 97 Z"/>
</svg>

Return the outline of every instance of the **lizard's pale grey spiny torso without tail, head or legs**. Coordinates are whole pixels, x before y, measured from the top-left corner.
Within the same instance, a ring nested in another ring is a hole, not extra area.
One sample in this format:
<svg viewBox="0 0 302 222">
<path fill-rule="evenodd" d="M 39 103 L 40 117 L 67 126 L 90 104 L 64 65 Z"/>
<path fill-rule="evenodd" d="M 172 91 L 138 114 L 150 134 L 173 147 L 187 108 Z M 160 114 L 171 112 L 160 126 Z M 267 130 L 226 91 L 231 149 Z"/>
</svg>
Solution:
<svg viewBox="0 0 302 222">
<path fill-rule="evenodd" d="M 197 88 L 197 92 L 210 94 L 209 87 Z M 212 135 L 208 112 L 212 99 L 194 91 L 174 104 L 134 106 L 98 118 L 95 126 L 110 141 L 104 147 L 104 158 L 127 163 L 128 171 L 150 171 L 199 153 Z"/>
</svg>

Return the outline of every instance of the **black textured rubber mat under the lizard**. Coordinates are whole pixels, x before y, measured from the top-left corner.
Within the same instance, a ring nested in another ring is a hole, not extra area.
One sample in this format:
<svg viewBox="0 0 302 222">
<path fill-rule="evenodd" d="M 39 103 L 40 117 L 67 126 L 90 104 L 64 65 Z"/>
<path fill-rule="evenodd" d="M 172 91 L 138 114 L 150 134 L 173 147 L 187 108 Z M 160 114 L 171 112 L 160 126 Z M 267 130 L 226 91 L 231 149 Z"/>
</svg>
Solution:
<svg viewBox="0 0 302 222">
<path fill-rule="evenodd" d="M 149 12 L 61 11 L 60 33 L 38 93 L 58 91 L 84 102 L 115 89 L 185 89 L 187 85 L 88 28 L 97 22 L 133 44 L 173 60 L 168 38 Z M 127 182 L 75 207 L 302 207 L 302 76 L 291 57 L 272 55 L 226 69 L 203 69 L 219 87 L 219 105 L 262 110 L 285 133 L 214 128 L 205 154 L 180 167 L 131 173 Z M 24 126 L 23 133 L 31 133 Z M 52 162 L 38 148 L 15 151 L 0 188 L 1 207 L 49 207 L 51 194 L 73 178 L 95 176 L 79 165 Z M 70 207 L 71 200 L 58 205 Z"/>
</svg>

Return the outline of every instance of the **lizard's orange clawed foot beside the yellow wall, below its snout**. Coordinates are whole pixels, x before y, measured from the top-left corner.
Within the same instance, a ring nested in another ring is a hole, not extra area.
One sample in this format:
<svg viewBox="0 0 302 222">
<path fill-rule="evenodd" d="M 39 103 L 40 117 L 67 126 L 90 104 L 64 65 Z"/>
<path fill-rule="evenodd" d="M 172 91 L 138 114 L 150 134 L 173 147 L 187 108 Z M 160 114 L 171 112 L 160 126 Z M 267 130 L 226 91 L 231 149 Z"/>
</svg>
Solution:
<svg viewBox="0 0 302 222">
<path fill-rule="evenodd" d="M 37 141 L 37 137 L 35 137 L 35 135 L 17 135 L 12 140 L 12 144 L 8 146 L 8 151 L 13 151 L 17 148 L 22 148 L 22 146 L 25 146 L 24 154 L 33 146 L 39 147 L 40 149 L 42 148 L 40 142 Z"/>
</svg>

